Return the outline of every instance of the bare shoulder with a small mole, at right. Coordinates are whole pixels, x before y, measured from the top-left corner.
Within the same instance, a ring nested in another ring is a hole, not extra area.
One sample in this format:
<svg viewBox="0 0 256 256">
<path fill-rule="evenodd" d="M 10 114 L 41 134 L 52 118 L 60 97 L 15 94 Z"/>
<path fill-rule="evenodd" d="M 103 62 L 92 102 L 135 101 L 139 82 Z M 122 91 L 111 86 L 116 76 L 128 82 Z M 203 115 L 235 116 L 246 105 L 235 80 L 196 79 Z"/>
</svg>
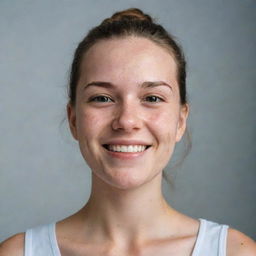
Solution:
<svg viewBox="0 0 256 256">
<path fill-rule="evenodd" d="M 227 256 L 256 256 L 256 243 L 242 232 L 229 228 Z"/>
</svg>

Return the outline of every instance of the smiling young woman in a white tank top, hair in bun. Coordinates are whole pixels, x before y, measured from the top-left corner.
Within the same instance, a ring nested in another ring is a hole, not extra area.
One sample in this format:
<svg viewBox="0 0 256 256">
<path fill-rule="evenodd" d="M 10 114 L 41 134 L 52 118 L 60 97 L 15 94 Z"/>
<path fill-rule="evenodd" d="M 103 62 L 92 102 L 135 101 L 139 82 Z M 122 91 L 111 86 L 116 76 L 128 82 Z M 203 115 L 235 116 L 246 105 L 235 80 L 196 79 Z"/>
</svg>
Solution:
<svg viewBox="0 0 256 256">
<path fill-rule="evenodd" d="M 92 170 L 74 215 L 6 240 L 0 255 L 256 255 L 226 225 L 173 209 L 163 169 L 186 130 L 185 60 L 165 29 L 139 9 L 115 13 L 79 44 L 67 114 Z"/>
</svg>

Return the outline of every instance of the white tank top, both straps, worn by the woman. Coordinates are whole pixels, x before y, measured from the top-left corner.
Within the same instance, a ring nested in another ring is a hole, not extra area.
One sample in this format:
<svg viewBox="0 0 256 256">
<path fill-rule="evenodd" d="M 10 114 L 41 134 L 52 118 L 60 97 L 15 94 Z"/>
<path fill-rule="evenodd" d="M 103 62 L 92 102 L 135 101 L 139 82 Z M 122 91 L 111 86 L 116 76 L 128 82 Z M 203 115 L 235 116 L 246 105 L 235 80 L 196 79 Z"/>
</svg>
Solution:
<svg viewBox="0 0 256 256">
<path fill-rule="evenodd" d="M 192 256 L 226 256 L 227 225 L 200 220 Z M 61 256 L 55 223 L 28 229 L 25 234 L 25 256 Z"/>
</svg>

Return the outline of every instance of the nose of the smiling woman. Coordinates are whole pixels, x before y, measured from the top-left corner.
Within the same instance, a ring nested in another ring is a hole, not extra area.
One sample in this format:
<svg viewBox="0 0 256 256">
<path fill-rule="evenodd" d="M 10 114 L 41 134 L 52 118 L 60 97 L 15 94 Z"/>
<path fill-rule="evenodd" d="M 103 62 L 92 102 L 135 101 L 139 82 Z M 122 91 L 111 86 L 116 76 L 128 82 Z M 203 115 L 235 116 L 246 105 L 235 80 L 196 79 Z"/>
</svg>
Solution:
<svg viewBox="0 0 256 256">
<path fill-rule="evenodd" d="M 138 106 L 132 102 L 126 102 L 120 105 L 117 106 L 116 113 L 114 114 L 112 128 L 129 133 L 140 129 L 142 119 Z"/>
</svg>

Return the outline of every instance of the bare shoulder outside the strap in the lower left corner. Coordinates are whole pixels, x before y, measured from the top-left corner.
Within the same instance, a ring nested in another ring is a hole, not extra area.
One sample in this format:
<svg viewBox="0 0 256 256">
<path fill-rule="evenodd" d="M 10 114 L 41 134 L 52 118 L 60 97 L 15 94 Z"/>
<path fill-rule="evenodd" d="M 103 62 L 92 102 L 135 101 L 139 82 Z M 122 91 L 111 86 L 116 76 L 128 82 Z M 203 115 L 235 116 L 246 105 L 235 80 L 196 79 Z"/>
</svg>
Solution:
<svg viewBox="0 0 256 256">
<path fill-rule="evenodd" d="M 9 237 L 0 243 L 0 256 L 24 256 L 25 233 Z"/>
</svg>

